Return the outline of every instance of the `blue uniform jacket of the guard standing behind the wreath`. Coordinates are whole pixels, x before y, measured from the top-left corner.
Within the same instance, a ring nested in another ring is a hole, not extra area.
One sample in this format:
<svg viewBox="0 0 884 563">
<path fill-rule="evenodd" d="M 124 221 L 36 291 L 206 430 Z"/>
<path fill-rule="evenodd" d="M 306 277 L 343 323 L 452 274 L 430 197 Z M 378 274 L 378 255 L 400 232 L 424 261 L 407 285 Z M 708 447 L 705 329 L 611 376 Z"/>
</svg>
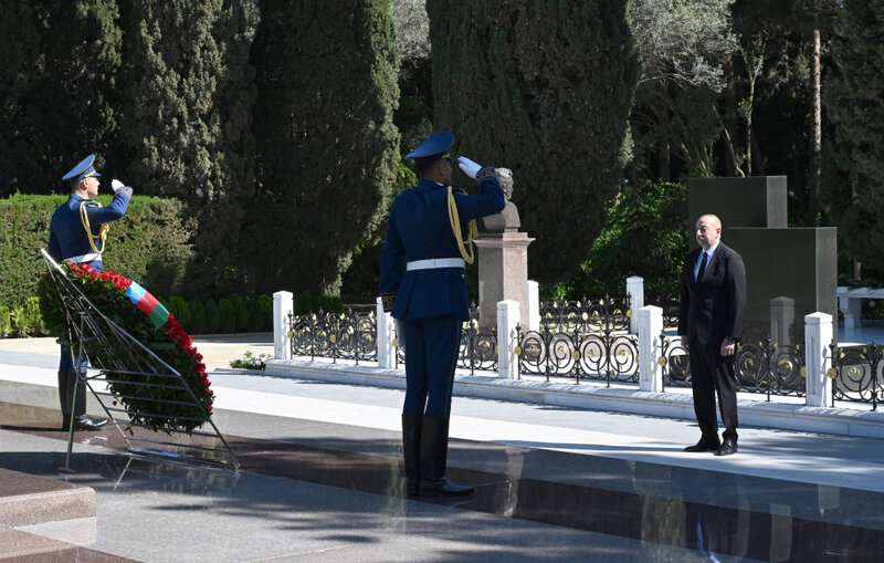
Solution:
<svg viewBox="0 0 884 563">
<path fill-rule="evenodd" d="M 114 195 L 114 200 L 107 207 L 98 207 L 97 201 L 86 199 L 82 196 L 71 194 L 67 201 L 61 205 L 54 213 L 52 213 L 52 221 L 49 231 L 49 248 L 46 251 L 56 262 L 67 260 L 69 258 L 82 257 L 94 254 L 95 251 L 90 244 L 90 236 L 83 227 L 83 220 L 80 217 L 80 206 L 86 201 L 86 215 L 90 219 L 90 227 L 92 229 L 93 243 L 101 249 L 101 240 L 97 237 L 98 229 L 103 223 L 116 221 L 126 213 L 129 207 L 129 199 L 131 198 L 131 188 L 120 188 Z M 95 267 L 96 262 L 101 262 L 101 256 L 95 260 L 83 260 L 83 263 Z M 77 260 L 77 262 L 81 262 Z"/>
</svg>

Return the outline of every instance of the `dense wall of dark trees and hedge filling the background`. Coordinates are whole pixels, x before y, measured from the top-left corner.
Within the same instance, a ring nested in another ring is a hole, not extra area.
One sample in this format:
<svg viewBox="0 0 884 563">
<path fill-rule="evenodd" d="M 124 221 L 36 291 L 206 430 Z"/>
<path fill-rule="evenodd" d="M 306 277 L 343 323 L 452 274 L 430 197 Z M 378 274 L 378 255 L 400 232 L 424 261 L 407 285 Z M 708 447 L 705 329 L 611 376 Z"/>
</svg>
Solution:
<svg viewBox="0 0 884 563">
<path fill-rule="evenodd" d="M 401 155 L 434 128 L 514 170 L 536 238 L 529 273 L 546 289 L 620 285 L 596 239 L 628 200 L 615 199 L 621 179 L 696 175 L 786 175 L 790 223 L 831 217 L 841 273 L 855 259 L 875 275 L 882 11 L 882 0 L 0 0 L 0 197 L 66 192 L 59 178 L 96 153 L 105 186 L 117 177 L 177 200 L 130 211 L 107 257 L 164 294 L 212 298 L 196 316 L 215 326 L 233 292 L 373 294 L 389 201 L 413 185 Z M 455 183 L 472 185 L 460 171 Z M 0 279 L 36 268 L 51 207 L 0 209 Z M 6 281 L 0 303 L 32 294 Z"/>
</svg>

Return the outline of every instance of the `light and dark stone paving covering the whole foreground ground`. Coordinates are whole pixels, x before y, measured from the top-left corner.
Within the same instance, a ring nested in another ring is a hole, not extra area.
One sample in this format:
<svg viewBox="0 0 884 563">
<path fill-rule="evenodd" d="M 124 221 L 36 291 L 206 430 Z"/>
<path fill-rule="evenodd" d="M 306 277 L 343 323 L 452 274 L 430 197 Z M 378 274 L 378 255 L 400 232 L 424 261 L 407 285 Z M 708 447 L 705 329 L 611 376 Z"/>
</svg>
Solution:
<svg viewBox="0 0 884 563">
<path fill-rule="evenodd" d="M 449 476 L 476 494 L 406 498 L 402 392 L 222 369 L 270 340 L 197 340 L 239 471 L 131 457 L 107 428 L 76 432 L 69 476 L 54 343 L 0 342 L 0 468 L 88 488 L 96 508 L 0 526 L 0 561 L 877 561 L 884 549 L 884 441 L 762 426 L 717 458 L 682 451 L 697 438 L 685 418 L 455 397 Z"/>
</svg>

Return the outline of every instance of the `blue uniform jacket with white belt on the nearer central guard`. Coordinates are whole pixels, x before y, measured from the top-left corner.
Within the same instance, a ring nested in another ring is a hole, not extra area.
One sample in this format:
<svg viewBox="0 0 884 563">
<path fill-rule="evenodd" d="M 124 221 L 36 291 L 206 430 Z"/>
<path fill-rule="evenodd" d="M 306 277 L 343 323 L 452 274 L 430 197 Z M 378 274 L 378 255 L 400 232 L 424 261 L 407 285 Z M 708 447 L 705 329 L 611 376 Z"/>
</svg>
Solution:
<svg viewBox="0 0 884 563">
<path fill-rule="evenodd" d="M 506 205 L 493 168 L 483 168 L 476 179 L 477 196 L 453 188 L 463 232 L 470 219 L 498 213 Z M 400 194 L 390 210 L 387 242 L 380 254 L 383 310 L 396 319 L 444 314 L 470 319 L 463 268 L 404 270 L 407 262 L 432 258 L 461 258 L 461 253 L 449 219 L 448 186 L 421 180 L 417 188 Z"/>
</svg>

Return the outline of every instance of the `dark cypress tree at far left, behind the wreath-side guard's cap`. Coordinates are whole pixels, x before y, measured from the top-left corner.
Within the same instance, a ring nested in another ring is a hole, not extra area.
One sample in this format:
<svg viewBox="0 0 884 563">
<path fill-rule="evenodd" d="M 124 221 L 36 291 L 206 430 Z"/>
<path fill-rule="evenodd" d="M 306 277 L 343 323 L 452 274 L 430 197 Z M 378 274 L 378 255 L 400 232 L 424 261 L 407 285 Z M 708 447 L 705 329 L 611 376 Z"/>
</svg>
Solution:
<svg viewBox="0 0 884 563">
<path fill-rule="evenodd" d="M 0 1 L 0 196 L 49 194 L 90 153 L 115 158 L 116 0 Z"/>
</svg>

